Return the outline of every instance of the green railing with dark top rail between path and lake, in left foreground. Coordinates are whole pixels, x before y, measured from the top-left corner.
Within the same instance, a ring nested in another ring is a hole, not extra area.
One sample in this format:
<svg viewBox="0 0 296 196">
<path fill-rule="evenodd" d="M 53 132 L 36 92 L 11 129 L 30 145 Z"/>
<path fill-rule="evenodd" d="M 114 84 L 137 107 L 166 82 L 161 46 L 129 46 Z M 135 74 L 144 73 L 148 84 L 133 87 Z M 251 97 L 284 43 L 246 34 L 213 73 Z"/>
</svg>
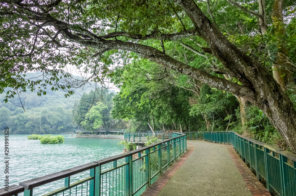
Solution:
<svg viewBox="0 0 296 196">
<path fill-rule="evenodd" d="M 186 135 L 174 136 L 138 150 L 10 185 L 8 192 L 0 189 L 0 195 L 135 195 L 186 152 Z"/>
</svg>

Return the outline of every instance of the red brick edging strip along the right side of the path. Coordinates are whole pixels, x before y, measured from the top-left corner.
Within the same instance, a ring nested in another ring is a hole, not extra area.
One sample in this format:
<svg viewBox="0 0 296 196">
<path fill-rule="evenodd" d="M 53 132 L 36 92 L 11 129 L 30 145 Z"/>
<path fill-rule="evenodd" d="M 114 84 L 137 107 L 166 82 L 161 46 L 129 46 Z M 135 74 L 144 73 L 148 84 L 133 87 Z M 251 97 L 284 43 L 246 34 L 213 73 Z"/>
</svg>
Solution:
<svg viewBox="0 0 296 196">
<path fill-rule="evenodd" d="M 253 196 L 271 196 L 270 192 L 261 184 L 261 182 L 257 179 L 254 173 L 250 170 L 250 168 L 244 163 L 244 161 L 239 157 L 237 152 L 233 149 L 233 147 L 228 147 L 229 154 L 233 159 L 235 165 L 237 166 L 239 172 L 242 175 L 245 183 L 247 184 L 247 188 L 250 190 Z"/>
</svg>

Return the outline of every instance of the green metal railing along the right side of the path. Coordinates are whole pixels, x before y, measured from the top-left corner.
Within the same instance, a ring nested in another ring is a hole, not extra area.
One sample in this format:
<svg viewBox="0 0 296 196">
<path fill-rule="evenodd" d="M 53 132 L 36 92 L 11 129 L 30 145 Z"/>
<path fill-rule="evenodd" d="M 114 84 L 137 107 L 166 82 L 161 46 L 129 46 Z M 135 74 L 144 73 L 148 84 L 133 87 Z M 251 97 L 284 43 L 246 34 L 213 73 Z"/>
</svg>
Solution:
<svg viewBox="0 0 296 196">
<path fill-rule="evenodd" d="M 269 192 L 280 196 L 296 196 L 296 155 L 272 145 L 256 141 L 232 131 L 185 132 L 187 140 L 205 140 L 231 144 L 239 156 L 256 173 L 265 179 Z"/>
</svg>

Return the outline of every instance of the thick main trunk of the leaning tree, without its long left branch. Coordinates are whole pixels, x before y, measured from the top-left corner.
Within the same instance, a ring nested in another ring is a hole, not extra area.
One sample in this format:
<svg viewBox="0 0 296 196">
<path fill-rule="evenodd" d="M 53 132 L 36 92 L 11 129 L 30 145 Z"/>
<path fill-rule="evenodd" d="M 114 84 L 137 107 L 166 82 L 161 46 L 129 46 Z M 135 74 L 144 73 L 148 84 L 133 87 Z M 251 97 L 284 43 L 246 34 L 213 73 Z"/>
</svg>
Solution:
<svg viewBox="0 0 296 196">
<path fill-rule="evenodd" d="M 211 47 L 213 55 L 237 78 L 252 89 L 254 97 L 240 96 L 257 105 L 280 132 L 293 152 L 296 152 L 296 111 L 289 97 L 256 60 L 242 54 L 236 46 L 211 24 L 194 1 L 175 0 L 186 10 L 197 31 Z M 211 83 L 209 83 L 211 85 Z"/>
</svg>

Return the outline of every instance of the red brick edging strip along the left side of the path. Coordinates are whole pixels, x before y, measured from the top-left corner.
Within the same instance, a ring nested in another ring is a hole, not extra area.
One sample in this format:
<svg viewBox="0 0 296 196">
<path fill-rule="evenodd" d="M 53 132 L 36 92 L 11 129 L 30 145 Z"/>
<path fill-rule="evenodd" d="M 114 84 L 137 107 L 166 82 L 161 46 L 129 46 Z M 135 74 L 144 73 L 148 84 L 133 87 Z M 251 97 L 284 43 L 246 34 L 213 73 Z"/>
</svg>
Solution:
<svg viewBox="0 0 296 196">
<path fill-rule="evenodd" d="M 189 155 L 193 152 L 194 146 L 196 145 L 187 145 L 191 148 L 184 155 L 181 156 L 172 166 L 170 166 L 161 176 L 159 176 L 155 182 L 148 187 L 141 196 L 157 196 L 157 194 L 163 189 L 163 187 L 168 183 L 168 181 L 173 177 L 173 175 L 178 171 L 178 169 L 183 165 Z"/>
</svg>

